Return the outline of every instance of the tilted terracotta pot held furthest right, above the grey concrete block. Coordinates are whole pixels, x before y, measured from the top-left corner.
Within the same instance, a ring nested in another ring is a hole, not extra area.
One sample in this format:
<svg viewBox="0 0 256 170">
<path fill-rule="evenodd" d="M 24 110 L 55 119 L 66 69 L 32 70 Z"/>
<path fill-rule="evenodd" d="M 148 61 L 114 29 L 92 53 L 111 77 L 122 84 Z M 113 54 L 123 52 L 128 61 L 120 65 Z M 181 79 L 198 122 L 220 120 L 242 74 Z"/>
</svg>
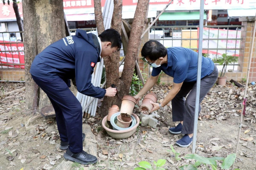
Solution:
<svg viewBox="0 0 256 170">
<path fill-rule="evenodd" d="M 154 107 L 150 101 L 156 103 L 157 101 L 157 96 L 155 93 L 148 93 L 144 99 L 142 100 L 142 103 L 140 105 L 140 109 L 142 111 L 143 114 L 148 115 L 150 113 L 150 111 L 152 110 L 152 108 Z"/>
</svg>

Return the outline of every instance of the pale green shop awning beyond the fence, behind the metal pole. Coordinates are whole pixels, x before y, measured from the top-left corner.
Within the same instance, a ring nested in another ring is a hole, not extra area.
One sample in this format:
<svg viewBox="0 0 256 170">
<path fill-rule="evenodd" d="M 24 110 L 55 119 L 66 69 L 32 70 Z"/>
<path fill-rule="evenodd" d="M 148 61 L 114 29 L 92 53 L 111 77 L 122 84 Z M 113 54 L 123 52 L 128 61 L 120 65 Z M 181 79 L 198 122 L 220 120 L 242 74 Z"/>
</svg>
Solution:
<svg viewBox="0 0 256 170">
<path fill-rule="evenodd" d="M 158 19 L 163 20 L 199 20 L 199 12 L 164 12 Z M 206 19 L 206 13 L 204 13 Z"/>
</svg>

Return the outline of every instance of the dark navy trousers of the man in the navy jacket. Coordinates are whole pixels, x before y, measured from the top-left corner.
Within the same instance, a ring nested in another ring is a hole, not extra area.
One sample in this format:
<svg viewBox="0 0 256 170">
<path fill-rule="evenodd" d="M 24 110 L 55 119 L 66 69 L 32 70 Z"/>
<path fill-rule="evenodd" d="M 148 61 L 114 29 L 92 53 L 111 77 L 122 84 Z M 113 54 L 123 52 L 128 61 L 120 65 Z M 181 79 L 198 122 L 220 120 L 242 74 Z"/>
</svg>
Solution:
<svg viewBox="0 0 256 170">
<path fill-rule="evenodd" d="M 55 110 L 61 141 L 68 141 L 71 152 L 82 152 L 82 106 L 61 78 L 42 79 L 32 76 L 47 94 Z"/>
</svg>

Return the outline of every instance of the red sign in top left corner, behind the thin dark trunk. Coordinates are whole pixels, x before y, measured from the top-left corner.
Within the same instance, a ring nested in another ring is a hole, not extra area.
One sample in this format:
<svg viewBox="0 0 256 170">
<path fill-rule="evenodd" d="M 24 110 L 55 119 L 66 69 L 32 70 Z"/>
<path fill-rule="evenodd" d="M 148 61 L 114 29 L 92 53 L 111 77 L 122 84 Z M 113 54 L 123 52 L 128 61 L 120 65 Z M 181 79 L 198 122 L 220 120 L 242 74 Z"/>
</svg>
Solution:
<svg viewBox="0 0 256 170">
<path fill-rule="evenodd" d="M 23 17 L 21 3 L 18 4 L 18 8 L 19 8 L 19 12 L 20 12 L 20 17 Z M 7 3 L 5 3 L 5 5 L 3 3 L 0 3 L 0 18 L 1 19 L 13 18 L 16 20 L 15 12 L 12 7 L 12 2 L 10 2 L 10 5 L 8 5 Z"/>
</svg>

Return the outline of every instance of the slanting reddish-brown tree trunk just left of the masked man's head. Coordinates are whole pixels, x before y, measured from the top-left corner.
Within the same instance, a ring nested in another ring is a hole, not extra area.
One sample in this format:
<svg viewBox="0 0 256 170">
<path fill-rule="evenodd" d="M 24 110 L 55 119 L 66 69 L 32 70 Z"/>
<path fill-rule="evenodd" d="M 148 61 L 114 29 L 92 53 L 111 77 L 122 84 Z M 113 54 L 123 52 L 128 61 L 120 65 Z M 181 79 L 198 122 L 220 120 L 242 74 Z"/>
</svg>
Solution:
<svg viewBox="0 0 256 170">
<path fill-rule="evenodd" d="M 132 30 L 130 33 L 127 53 L 124 60 L 124 69 L 120 79 L 120 86 L 122 87 L 120 91 L 120 96 L 129 94 L 132 82 L 133 69 L 140 49 L 140 36 L 145 26 L 144 22 L 145 16 L 147 15 L 148 11 L 148 3 L 149 0 L 138 0 L 134 19 L 132 22 Z"/>
</svg>

